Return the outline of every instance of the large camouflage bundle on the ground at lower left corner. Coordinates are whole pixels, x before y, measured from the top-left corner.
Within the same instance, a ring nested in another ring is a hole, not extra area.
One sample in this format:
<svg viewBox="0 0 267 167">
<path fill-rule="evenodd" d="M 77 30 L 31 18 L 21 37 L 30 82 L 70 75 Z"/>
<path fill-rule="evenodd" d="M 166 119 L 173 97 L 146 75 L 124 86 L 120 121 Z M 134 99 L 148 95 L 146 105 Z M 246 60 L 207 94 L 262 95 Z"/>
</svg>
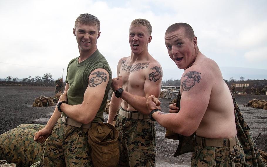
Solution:
<svg viewBox="0 0 267 167">
<path fill-rule="evenodd" d="M 0 159 L 16 166 L 30 166 L 40 160 L 45 143 L 33 141 L 34 134 L 44 125 L 21 124 L 0 135 Z"/>
</svg>

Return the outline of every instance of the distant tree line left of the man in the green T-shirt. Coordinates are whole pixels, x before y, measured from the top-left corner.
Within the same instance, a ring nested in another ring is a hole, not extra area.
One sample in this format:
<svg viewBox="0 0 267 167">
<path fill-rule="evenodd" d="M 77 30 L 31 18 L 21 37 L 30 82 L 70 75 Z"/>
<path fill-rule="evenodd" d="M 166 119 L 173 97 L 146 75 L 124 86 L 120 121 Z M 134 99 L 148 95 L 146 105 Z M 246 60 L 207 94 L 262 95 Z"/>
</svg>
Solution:
<svg viewBox="0 0 267 167">
<path fill-rule="evenodd" d="M 35 78 L 28 76 L 21 81 L 17 77 L 7 76 L 5 80 L 0 79 L 0 86 L 55 86 L 52 74 L 46 73 L 43 77 Z"/>
</svg>

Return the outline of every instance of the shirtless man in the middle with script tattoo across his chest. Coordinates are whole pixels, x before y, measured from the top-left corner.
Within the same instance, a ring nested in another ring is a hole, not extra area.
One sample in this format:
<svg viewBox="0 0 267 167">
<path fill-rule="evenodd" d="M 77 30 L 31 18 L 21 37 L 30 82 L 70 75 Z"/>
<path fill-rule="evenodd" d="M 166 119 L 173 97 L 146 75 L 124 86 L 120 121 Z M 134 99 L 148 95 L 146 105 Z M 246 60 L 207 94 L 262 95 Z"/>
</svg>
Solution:
<svg viewBox="0 0 267 167">
<path fill-rule="evenodd" d="M 146 99 L 158 97 L 162 79 L 161 66 L 149 53 L 151 25 L 145 19 L 132 21 L 129 30 L 131 56 L 123 57 L 112 79 L 108 123 L 118 109 L 115 127 L 119 131 L 119 166 L 155 166 L 156 128 L 149 119 Z M 156 102 L 158 103 L 158 101 Z"/>
</svg>

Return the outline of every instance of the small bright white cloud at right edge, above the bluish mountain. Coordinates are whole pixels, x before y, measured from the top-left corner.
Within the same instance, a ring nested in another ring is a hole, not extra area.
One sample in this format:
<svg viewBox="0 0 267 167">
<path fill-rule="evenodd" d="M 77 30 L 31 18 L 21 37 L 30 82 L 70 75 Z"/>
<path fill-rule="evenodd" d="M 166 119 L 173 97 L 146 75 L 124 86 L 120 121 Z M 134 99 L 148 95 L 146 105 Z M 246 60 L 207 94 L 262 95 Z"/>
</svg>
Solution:
<svg viewBox="0 0 267 167">
<path fill-rule="evenodd" d="M 253 51 L 248 51 L 245 53 L 244 57 L 249 62 L 266 63 L 267 62 L 267 47 L 258 48 Z"/>
</svg>

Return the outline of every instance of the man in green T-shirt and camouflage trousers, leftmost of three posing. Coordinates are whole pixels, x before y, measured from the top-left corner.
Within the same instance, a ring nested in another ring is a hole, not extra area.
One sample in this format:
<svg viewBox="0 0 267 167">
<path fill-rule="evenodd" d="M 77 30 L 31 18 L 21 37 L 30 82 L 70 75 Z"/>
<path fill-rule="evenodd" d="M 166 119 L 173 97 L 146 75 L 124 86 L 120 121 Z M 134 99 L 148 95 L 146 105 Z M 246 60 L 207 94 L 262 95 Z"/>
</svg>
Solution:
<svg viewBox="0 0 267 167">
<path fill-rule="evenodd" d="M 34 141 L 46 146 L 40 166 L 93 166 L 87 132 L 92 123 L 104 121 L 111 86 L 111 70 L 97 49 L 100 21 L 91 14 L 81 14 L 73 34 L 79 56 L 67 67 L 65 91 L 45 128 Z"/>
</svg>

